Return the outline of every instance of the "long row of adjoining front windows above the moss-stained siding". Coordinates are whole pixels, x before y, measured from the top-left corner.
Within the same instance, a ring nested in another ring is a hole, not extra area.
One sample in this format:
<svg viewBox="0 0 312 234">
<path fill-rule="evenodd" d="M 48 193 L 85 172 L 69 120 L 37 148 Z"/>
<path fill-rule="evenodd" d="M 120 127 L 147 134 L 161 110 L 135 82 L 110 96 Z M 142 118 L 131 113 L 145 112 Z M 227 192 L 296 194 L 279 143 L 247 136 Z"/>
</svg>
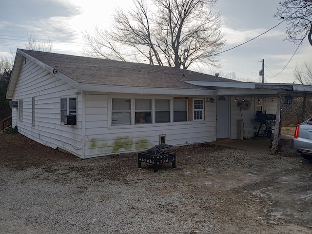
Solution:
<svg viewBox="0 0 312 234">
<path fill-rule="evenodd" d="M 205 101 L 203 98 L 111 98 L 110 100 L 111 126 L 187 122 L 205 119 Z"/>
</svg>

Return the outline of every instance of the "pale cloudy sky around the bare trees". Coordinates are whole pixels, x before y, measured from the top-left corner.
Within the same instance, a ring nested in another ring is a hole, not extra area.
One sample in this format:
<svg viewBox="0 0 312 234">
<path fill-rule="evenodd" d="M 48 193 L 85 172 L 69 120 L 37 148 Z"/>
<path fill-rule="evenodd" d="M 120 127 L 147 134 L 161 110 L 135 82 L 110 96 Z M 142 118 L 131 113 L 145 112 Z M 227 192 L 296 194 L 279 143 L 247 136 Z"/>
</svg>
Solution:
<svg viewBox="0 0 312 234">
<path fill-rule="evenodd" d="M 261 82 L 259 71 L 264 59 L 264 80 L 269 83 L 297 83 L 293 68 L 311 61 L 308 39 L 299 47 L 285 40 L 286 23 L 273 18 L 280 0 L 218 0 L 215 10 L 221 15 L 221 31 L 226 45 L 219 59 L 221 67 L 201 66 L 194 71 L 222 77 L 234 74 L 248 82 Z M 51 52 L 83 56 L 82 32 L 93 33 L 94 26 L 109 28 L 112 14 L 131 7 L 131 0 L 1 0 L 0 57 L 15 56 L 25 48 L 28 35 L 51 40 Z M 252 41 L 231 49 L 250 39 Z M 292 59 L 291 59 L 292 58 Z M 291 59 L 291 61 L 290 61 Z M 290 61 L 290 62 L 289 62 Z M 289 64 L 288 64 L 289 63 Z M 288 65 L 287 65 L 288 64 Z M 286 67 L 285 67 L 286 66 Z"/>
</svg>

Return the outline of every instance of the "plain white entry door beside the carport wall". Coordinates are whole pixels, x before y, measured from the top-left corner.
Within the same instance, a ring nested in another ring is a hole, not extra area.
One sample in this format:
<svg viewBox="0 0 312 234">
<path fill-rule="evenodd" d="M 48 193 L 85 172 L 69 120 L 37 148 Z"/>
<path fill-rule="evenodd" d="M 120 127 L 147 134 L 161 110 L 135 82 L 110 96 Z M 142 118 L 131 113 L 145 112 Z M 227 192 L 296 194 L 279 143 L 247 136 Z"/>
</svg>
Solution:
<svg viewBox="0 0 312 234">
<path fill-rule="evenodd" d="M 229 97 L 216 98 L 216 138 L 230 137 L 230 107 Z"/>
</svg>

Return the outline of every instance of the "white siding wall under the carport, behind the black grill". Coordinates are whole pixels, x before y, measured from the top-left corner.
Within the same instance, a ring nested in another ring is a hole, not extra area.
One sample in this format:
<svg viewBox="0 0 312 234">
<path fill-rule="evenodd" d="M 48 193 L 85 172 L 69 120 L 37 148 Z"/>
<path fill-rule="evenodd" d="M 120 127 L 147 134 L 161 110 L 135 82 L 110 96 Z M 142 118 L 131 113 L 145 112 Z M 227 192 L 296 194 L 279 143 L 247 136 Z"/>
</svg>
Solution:
<svg viewBox="0 0 312 234">
<path fill-rule="evenodd" d="M 251 107 L 248 110 L 240 110 L 237 106 L 237 102 L 234 101 L 235 97 L 231 98 L 231 139 L 237 138 L 237 119 L 242 119 L 244 124 L 244 138 L 254 137 L 254 134 L 258 131 L 260 123 L 255 121 L 256 114 L 256 100 L 258 98 L 245 98 L 252 102 Z M 263 113 L 266 110 L 267 114 L 276 113 L 276 98 L 262 98 L 263 100 Z M 242 101 L 242 98 L 237 98 L 237 101 Z M 259 134 L 263 134 L 265 125 L 261 127 Z"/>
</svg>

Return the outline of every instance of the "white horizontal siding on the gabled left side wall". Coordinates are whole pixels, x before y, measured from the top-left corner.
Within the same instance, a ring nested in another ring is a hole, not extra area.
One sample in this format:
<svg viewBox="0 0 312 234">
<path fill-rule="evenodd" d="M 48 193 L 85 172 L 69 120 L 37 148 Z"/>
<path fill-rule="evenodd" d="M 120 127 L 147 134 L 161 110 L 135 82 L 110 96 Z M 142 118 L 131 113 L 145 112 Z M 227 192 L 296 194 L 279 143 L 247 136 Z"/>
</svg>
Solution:
<svg viewBox="0 0 312 234">
<path fill-rule="evenodd" d="M 23 100 L 23 117 L 12 109 L 12 125 L 18 131 L 41 144 L 61 148 L 77 156 L 81 145 L 81 98 L 78 98 L 78 127 L 60 123 L 60 97 L 75 96 L 77 90 L 37 64 L 26 60 L 20 71 L 12 100 Z M 35 98 L 35 125 L 32 126 L 32 98 Z"/>
</svg>

